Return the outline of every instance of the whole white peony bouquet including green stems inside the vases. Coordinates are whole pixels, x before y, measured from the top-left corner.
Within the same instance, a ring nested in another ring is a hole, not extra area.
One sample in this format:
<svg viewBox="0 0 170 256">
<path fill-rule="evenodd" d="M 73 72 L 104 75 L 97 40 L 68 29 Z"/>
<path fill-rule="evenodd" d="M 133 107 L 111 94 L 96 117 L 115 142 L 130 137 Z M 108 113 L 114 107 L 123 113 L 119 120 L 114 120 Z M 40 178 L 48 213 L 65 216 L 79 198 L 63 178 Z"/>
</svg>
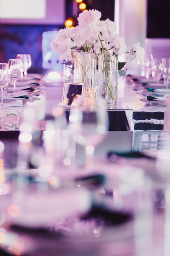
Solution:
<svg viewBox="0 0 170 256">
<path fill-rule="evenodd" d="M 97 70 L 96 85 L 98 87 L 100 87 L 99 79 L 101 77 L 98 70 L 98 61 L 99 58 L 101 58 L 103 63 L 102 70 L 106 81 L 104 94 L 106 95 L 109 92 L 111 99 L 114 99 L 112 88 L 113 81 L 109 79 L 109 65 L 107 65 L 108 54 L 114 56 L 115 63 L 117 60 L 117 72 L 120 76 L 124 76 L 126 72 L 123 68 L 126 62 L 119 62 L 118 56 L 127 53 L 126 59 L 134 63 L 141 61 L 145 51 L 140 47 L 140 43 L 135 43 L 130 51 L 126 52 L 125 39 L 116 32 L 116 23 L 110 19 L 100 20 L 101 16 L 102 13 L 94 9 L 80 13 L 77 18 L 78 25 L 73 28 L 66 27 L 60 29 L 56 38 L 52 40 L 51 47 L 55 52 L 61 54 L 60 59 L 64 60 L 65 64 L 72 63 L 73 69 L 78 59 L 78 53 L 85 52 L 87 55 L 90 55 L 92 59 L 95 59 Z M 91 64 L 88 65 L 86 61 L 84 62 L 85 65 L 82 64 L 81 61 L 78 61 L 78 63 L 84 74 L 81 76 L 83 81 L 80 82 L 84 82 L 84 78 L 86 78 L 85 81 L 88 85 L 94 86 L 94 84 L 91 84 L 91 77 L 89 77 L 89 74 L 91 74 L 91 72 L 89 72 L 89 70 L 91 70 L 89 65 Z M 111 71 L 111 73 L 112 72 L 113 71 Z M 99 92 L 100 90 L 101 88 L 99 88 Z"/>
</svg>

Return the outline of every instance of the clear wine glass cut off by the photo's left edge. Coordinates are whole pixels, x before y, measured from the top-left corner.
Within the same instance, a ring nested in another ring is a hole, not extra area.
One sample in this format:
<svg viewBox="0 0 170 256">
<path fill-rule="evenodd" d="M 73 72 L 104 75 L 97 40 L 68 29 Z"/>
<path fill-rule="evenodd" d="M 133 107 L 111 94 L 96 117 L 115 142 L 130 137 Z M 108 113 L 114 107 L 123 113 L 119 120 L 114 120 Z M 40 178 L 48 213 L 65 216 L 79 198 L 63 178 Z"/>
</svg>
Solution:
<svg viewBox="0 0 170 256">
<path fill-rule="evenodd" d="M 3 105 L 3 89 L 9 83 L 9 66 L 7 63 L 0 63 L 0 96 L 1 96 L 1 105 Z"/>
</svg>

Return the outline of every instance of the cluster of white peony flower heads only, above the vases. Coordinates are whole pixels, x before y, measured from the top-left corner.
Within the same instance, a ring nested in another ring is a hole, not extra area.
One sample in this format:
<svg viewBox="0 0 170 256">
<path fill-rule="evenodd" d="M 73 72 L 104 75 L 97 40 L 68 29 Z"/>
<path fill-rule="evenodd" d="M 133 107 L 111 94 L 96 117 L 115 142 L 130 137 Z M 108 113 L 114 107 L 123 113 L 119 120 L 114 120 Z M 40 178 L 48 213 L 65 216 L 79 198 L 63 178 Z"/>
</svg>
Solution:
<svg viewBox="0 0 170 256">
<path fill-rule="evenodd" d="M 110 19 L 100 20 L 102 13 L 97 10 L 84 11 L 79 14 L 78 25 L 74 28 L 60 29 L 56 38 L 52 40 L 53 51 L 58 52 L 60 59 L 74 61 L 75 52 L 89 52 L 96 58 L 102 52 L 113 51 L 115 55 L 126 52 L 125 38 L 116 32 L 117 25 Z M 144 56 L 144 49 L 140 43 L 135 43 L 128 53 L 130 62 L 140 61 Z"/>
</svg>

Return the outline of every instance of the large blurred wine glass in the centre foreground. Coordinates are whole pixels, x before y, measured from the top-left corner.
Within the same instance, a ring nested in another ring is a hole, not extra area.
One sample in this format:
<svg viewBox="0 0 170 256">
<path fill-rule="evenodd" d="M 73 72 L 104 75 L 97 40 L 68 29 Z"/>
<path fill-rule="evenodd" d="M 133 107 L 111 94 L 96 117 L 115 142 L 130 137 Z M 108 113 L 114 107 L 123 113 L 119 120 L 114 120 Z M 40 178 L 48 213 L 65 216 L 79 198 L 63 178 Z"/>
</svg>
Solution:
<svg viewBox="0 0 170 256">
<path fill-rule="evenodd" d="M 102 142 L 108 131 L 108 112 L 101 101 L 94 100 L 92 108 L 89 107 L 91 104 L 73 108 L 69 115 L 68 129 L 85 149 L 86 168 L 93 167 L 95 146 Z"/>
</svg>

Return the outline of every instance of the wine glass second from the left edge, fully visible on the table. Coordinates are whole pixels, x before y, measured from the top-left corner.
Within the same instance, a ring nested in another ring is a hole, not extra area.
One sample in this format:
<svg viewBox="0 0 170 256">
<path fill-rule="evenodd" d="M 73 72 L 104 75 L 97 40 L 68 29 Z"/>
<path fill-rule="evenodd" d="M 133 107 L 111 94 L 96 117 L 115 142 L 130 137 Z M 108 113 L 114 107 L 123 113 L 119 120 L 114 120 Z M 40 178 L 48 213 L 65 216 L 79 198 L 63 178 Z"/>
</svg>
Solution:
<svg viewBox="0 0 170 256">
<path fill-rule="evenodd" d="M 13 95 L 15 95 L 16 94 L 16 81 L 17 81 L 18 77 L 20 77 L 20 75 L 21 75 L 22 63 L 19 59 L 13 58 L 13 59 L 9 59 L 8 65 L 9 65 L 10 79 L 13 81 Z"/>
</svg>

